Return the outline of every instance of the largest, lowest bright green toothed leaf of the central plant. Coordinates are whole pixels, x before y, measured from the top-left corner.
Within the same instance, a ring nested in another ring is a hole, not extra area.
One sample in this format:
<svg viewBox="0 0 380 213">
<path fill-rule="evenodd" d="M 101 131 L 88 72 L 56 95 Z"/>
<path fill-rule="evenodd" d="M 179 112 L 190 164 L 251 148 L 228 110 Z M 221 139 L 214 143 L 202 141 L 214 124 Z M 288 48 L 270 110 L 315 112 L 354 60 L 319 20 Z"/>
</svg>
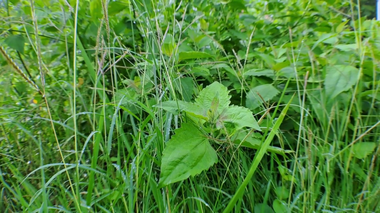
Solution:
<svg viewBox="0 0 380 213">
<path fill-rule="evenodd" d="M 215 150 L 198 128 L 181 125 L 162 153 L 159 188 L 195 176 L 218 162 Z"/>
</svg>

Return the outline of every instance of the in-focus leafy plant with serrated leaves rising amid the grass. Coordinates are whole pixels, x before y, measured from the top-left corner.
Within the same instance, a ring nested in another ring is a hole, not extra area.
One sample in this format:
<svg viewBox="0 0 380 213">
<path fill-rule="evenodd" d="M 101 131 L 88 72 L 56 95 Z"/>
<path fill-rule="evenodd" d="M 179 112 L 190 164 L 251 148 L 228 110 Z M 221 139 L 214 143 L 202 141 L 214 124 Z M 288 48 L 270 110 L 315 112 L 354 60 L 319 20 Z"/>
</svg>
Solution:
<svg viewBox="0 0 380 213">
<path fill-rule="evenodd" d="M 154 107 L 162 108 L 175 115 L 187 113 L 198 118 L 198 122 L 199 120 L 207 121 L 211 125 L 211 130 L 208 132 L 210 135 L 213 135 L 214 127 L 220 130 L 225 127 L 225 124 L 232 124 L 230 131 L 231 128 L 239 130 L 243 127 L 261 131 L 249 109 L 230 105 L 230 98 L 227 88 L 215 81 L 199 92 L 195 103 L 182 100 L 165 101 Z M 209 143 L 209 139 L 217 142 L 220 140 L 207 136 L 202 127 L 185 122 L 181 125 L 181 128 L 174 130 L 175 135 L 168 141 L 163 151 L 158 187 L 199 174 L 218 162 L 217 153 Z M 239 142 L 242 143 L 243 140 Z M 275 150 L 275 148 L 272 149 Z"/>
</svg>

